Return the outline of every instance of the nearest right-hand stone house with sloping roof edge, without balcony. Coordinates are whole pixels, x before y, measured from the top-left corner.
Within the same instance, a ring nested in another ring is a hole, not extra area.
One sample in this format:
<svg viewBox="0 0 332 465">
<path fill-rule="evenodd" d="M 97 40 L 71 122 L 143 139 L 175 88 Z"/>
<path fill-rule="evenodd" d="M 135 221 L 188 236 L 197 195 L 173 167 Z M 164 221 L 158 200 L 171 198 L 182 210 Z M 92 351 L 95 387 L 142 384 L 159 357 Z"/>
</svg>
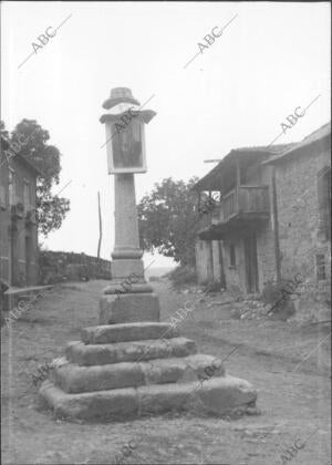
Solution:
<svg viewBox="0 0 332 465">
<path fill-rule="evenodd" d="M 280 273 L 325 280 L 331 256 L 331 124 L 266 162 L 276 173 Z"/>
</svg>

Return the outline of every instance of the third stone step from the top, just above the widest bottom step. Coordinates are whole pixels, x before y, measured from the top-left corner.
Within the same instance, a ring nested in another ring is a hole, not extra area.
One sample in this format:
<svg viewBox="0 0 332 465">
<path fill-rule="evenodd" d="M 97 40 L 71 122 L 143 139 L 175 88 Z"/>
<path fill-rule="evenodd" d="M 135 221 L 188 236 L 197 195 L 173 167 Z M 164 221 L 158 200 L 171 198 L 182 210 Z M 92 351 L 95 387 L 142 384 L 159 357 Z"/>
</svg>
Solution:
<svg viewBox="0 0 332 465">
<path fill-rule="evenodd" d="M 220 360 L 212 355 L 195 354 L 97 366 L 66 363 L 52 370 L 51 380 L 66 393 L 80 393 L 193 381 L 204 375 L 205 369 L 212 370 L 214 375 L 225 374 Z"/>
</svg>

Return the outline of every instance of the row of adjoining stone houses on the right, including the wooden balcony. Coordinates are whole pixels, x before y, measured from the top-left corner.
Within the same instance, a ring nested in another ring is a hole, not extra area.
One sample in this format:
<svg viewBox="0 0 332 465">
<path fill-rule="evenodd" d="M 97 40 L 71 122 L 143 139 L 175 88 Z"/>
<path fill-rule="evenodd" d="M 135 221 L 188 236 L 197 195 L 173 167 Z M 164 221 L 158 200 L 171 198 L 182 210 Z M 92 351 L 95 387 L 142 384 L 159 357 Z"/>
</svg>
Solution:
<svg viewBox="0 0 332 465">
<path fill-rule="evenodd" d="M 330 146 L 326 124 L 297 144 L 232 149 L 193 187 L 199 205 L 217 200 L 200 219 L 200 283 L 256 293 L 303 270 L 328 278 Z"/>
</svg>

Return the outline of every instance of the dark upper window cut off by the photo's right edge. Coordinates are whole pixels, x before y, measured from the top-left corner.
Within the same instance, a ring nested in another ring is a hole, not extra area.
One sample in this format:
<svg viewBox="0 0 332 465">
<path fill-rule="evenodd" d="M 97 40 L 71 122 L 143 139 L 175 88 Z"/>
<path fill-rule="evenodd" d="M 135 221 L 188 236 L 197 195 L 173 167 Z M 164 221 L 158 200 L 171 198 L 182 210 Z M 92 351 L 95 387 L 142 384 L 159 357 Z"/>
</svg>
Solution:
<svg viewBox="0 0 332 465">
<path fill-rule="evenodd" d="M 325 166 L 318 173 L 319 229 L 331 238 L 331 168 Z"/>
</svg>

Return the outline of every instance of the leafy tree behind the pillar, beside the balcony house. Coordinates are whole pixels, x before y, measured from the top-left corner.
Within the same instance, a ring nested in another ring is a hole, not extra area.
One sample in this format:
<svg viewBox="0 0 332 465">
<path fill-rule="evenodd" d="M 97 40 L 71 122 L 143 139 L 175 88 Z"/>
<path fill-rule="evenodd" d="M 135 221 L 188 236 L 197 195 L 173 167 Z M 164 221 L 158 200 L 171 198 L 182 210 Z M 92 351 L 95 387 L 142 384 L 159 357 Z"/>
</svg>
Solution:
<svg viewBox="0 0 332 465">
<path fill-rule="evenodd" d="M 137 206 L 141 247 L 183 266 L 195 265 L 195 240 L 198 230 L 197 195 L 190 190 L 198 178 L 155 184 L 151 194 Z"/>
</svg>

